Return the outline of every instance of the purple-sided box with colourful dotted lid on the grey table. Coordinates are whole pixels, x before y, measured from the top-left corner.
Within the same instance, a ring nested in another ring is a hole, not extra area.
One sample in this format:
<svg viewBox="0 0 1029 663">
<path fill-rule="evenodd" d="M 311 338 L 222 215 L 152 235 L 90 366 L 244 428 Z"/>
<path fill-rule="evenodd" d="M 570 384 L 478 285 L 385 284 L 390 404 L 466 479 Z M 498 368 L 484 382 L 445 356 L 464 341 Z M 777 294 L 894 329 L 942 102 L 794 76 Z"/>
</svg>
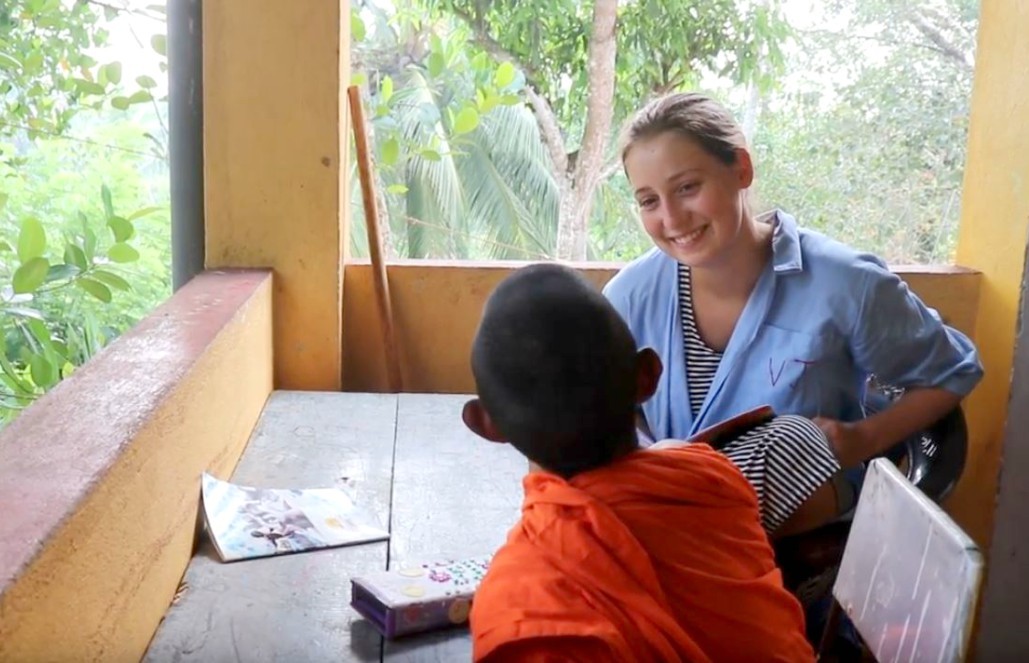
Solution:
<svg viewBox="0 0 1029 663">
<path fill-rule="evenodd" d="M 491 558 L 447 559 L 353 578 L 350 604 L 387 638 L 464 624 Z"/>
</svg>

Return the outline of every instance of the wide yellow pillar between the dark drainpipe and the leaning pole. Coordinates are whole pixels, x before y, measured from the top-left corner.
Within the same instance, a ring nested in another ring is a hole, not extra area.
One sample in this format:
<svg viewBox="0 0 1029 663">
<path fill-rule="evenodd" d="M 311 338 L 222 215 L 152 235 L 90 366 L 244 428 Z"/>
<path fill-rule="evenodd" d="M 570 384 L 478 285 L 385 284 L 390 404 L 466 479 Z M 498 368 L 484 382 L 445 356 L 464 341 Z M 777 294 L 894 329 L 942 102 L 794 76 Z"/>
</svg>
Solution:
<svg viewBox="0 0 1029 663">
<path fill-rule="evenodd" d="M 280 388 L 342 383 L 349 6 L 204 3 L 206 267 L 274 270 Z"/>
</svg>

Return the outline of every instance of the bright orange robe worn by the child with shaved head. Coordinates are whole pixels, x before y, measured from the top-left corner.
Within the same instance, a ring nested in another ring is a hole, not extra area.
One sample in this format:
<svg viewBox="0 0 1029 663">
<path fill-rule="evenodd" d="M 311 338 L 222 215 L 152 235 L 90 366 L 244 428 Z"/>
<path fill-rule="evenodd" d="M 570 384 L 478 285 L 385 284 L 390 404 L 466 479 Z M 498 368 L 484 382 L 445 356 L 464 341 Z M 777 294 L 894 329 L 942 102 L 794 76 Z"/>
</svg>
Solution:
<svg viewBox="0 0 1029 663">
<path fill-rule="evenodd" d="M 710 447 L 524 486 L 472 603 L 475 661 L 814 661 L 757 497 Z"/>
</svg>

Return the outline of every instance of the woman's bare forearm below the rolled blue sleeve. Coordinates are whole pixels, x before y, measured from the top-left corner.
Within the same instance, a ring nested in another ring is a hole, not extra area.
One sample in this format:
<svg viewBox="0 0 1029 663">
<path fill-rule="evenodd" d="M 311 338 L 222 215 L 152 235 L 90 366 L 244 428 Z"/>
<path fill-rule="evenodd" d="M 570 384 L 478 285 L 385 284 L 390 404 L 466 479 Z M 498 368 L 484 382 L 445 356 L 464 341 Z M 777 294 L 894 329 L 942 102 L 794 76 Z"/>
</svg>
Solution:
<svg viewBox="0 0 1029 663">
<path fill-rule="evenodd" d="M 885 411 L 854 423 L 816 417 L 844 467 L 882 454 L 900 440 L 932 425 L 961 402 L 938 388 L 911 389 Z"/>
</svg>

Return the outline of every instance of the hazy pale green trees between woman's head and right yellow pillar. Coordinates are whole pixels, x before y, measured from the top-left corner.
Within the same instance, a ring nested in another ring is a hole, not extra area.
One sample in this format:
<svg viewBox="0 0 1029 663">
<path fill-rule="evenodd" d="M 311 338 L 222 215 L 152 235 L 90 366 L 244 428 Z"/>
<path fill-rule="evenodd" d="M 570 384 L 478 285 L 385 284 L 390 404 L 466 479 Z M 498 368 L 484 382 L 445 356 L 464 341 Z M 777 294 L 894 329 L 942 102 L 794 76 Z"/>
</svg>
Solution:
<svg viewBox="0 0 1029 663">
<path fill-rule="evenodd" d="M 837 29 L 797 35 L 789 68 L 805 79 L 767 100 L 755 141 L 760 201 L 892 261 L 950 261 L 977 5 L 827 6 Z"/>
</svg>

